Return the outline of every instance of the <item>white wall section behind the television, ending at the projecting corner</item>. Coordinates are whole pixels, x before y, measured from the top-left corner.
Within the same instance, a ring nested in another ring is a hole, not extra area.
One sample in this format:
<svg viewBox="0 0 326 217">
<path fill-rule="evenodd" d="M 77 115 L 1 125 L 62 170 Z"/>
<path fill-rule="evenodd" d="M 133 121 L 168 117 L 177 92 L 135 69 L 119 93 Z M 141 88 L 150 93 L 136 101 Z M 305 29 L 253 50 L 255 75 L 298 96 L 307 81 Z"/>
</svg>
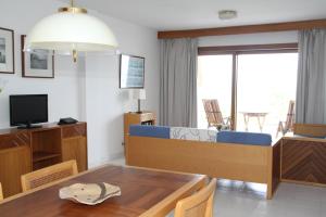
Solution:
<svg viewBox="0 0 326 217">
<path fill-rule="evenodd" d="M 4 91 L 0 93 L 0 128 L 9 127 L 9 94 L 49 94 L 49 120 L 82 115 L 79 99 L 80 74 L 83 65 L 74 64 L 68 56 L 55 58 L 55 78 L 22 78 L 21 35 L 41 17 L 53 13 L 62 5 L 53 0 L 0 0 L 0 27 L 14 30 L 15 36 L 15 74 L 0 74 L 7 81 Z"/>
</svg>

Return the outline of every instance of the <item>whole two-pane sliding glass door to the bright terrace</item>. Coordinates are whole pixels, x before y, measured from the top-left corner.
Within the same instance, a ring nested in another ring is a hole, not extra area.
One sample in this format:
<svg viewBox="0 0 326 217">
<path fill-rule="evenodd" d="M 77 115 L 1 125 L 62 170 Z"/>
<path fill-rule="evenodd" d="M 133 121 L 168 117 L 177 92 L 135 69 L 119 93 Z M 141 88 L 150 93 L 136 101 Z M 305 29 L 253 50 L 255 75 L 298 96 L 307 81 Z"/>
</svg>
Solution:
<svg viewBox="0 0 326 217">
<path fill-rule="evenodd" d="M 297 68 L 296 48 L 216 54 L 211 49 L 199 55 L 198 127 L 209 125 L 202 100 L 214 99 L 222 116 L 230 116 L 233 129 L 276 135 L 279 123 L 293 116 Z"/>
</svg>

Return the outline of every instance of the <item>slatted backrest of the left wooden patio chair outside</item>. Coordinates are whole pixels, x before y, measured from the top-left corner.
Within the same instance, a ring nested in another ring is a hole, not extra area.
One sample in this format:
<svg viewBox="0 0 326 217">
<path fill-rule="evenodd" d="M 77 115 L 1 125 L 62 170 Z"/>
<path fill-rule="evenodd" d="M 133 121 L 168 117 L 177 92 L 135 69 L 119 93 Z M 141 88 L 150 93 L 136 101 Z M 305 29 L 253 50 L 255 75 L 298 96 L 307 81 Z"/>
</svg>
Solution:
<svg viewBox="0 0 326 217">
<path fill-rule="evenodd" d="M 217 100 L 202 100 L 210 126 L 223 125 L 223 116 Z"/>
</svg>

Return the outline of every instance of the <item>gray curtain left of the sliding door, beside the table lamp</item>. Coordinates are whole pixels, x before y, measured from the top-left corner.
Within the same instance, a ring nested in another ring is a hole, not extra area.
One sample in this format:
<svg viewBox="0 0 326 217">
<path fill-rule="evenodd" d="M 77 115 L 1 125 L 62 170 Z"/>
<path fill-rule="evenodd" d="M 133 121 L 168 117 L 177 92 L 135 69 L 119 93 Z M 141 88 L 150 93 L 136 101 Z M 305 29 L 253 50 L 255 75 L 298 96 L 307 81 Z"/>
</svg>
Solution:
<svg viewBox="0 0 326 217">
<path fill-rule="evenodd" d="M 161 40 L 161 125 L 197 127 L 197 39 Z"/>
</svg>

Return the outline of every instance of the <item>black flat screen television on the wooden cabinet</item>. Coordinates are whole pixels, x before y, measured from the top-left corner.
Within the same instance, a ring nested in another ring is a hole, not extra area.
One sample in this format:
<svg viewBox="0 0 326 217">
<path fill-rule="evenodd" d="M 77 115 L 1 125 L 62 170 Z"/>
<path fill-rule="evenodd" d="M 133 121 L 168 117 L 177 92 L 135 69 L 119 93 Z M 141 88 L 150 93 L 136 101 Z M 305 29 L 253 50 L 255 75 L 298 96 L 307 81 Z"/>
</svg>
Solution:
<svg viewBox="0 0 326 217">
<path fill-rule="evenodd" d="M 18 128 L 36 128 L 33 125 L 48 122 L 47 94 L 10 95 L 10 125 Z"/>
</svg>

